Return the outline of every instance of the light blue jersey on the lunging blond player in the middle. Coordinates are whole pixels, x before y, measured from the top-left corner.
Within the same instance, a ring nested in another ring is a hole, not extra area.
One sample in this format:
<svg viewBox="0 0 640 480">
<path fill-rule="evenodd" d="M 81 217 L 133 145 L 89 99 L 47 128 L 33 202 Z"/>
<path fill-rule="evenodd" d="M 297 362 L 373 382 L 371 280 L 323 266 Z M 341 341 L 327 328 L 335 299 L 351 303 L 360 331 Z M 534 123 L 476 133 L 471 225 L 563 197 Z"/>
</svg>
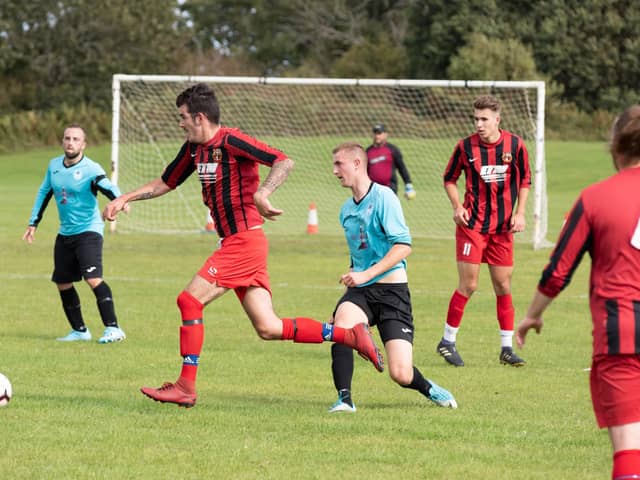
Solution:
<svg viewBox="0 0 640 480">
<path fill-rule="evenodd" d="M 372 183 L 360 202 L 350 198 L 340 210 L 340 224 L 351 253 L 351 268 L 362 272 L 378 263 L 395 244 L 411 245 L 411 234 L 404 220 L 400 200 L 393 190 Z M 402 260 L 386 272 L 371 279 L 370 285 L 398 268 L 406 268 Z"/>
</svg>

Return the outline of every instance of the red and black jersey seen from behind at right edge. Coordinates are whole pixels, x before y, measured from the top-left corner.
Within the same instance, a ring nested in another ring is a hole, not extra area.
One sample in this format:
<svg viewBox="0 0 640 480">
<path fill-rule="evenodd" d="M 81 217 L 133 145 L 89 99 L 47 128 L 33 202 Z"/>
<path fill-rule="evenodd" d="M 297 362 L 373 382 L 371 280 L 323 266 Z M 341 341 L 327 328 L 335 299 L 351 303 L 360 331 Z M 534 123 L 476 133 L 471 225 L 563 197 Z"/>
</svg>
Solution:
<svg viewBox="0 0 640 480">
<path fill-rule="evenodd" d="M 591 256 L 593 354 L 640 353 L 640 168 L 587 187 L 562 227 L 538 290 L 555 297 Z"/>
</svg>

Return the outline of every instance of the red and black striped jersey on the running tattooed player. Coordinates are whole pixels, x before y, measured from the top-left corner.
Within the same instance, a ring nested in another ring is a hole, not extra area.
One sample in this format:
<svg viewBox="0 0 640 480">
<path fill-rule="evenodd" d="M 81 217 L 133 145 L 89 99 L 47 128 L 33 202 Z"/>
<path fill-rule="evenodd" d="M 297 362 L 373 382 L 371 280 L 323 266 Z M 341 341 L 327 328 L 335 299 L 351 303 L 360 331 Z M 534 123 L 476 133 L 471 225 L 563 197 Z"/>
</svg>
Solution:
<svg viewBox="0 0 640 480">
<path fill-rule="evenodd" d="M 259 164 L 273 166 L 287 156 L 236 128 L 220 127 L 205 144 L 186 142 L 162 173 L 171 188 L 194 171 L 202 186 L 202 201 L 209 207 L 220 237 L 262 225 L 253 202 L 260 183 Z"/>
</svg>

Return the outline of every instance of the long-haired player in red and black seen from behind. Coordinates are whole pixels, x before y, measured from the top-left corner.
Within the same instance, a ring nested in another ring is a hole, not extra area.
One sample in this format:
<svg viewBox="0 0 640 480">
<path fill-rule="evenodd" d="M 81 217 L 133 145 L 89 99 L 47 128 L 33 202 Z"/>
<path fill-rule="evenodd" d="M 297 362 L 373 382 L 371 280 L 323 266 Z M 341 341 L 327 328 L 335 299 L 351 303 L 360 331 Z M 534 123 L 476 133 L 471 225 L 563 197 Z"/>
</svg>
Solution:
<svg viewBox="0 0 640 480">
<path fill-rule="evenodd" d="M 640 105 L 614 123 L 618 173 L 582 191 L 542 272 L 516 341 L 540 333 L 542 314 L 591 256 L 591 399 L 613 444 L 613 479 L 640 478 Z"/>
</svg>

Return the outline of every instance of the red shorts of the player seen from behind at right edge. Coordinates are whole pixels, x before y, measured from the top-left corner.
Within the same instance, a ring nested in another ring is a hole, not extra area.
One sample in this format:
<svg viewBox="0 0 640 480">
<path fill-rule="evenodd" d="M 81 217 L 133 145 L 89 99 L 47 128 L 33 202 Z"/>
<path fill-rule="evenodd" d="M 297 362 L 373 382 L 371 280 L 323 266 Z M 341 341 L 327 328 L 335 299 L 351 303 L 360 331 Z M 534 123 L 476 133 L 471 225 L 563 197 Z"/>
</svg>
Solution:
<svg viewBox="0 0 640 480">
<path fill-rule="evenodd" d="M 640 355 L 594 358 L 591 402 L 600 428 L 640 422 Z"/>
</svg>

